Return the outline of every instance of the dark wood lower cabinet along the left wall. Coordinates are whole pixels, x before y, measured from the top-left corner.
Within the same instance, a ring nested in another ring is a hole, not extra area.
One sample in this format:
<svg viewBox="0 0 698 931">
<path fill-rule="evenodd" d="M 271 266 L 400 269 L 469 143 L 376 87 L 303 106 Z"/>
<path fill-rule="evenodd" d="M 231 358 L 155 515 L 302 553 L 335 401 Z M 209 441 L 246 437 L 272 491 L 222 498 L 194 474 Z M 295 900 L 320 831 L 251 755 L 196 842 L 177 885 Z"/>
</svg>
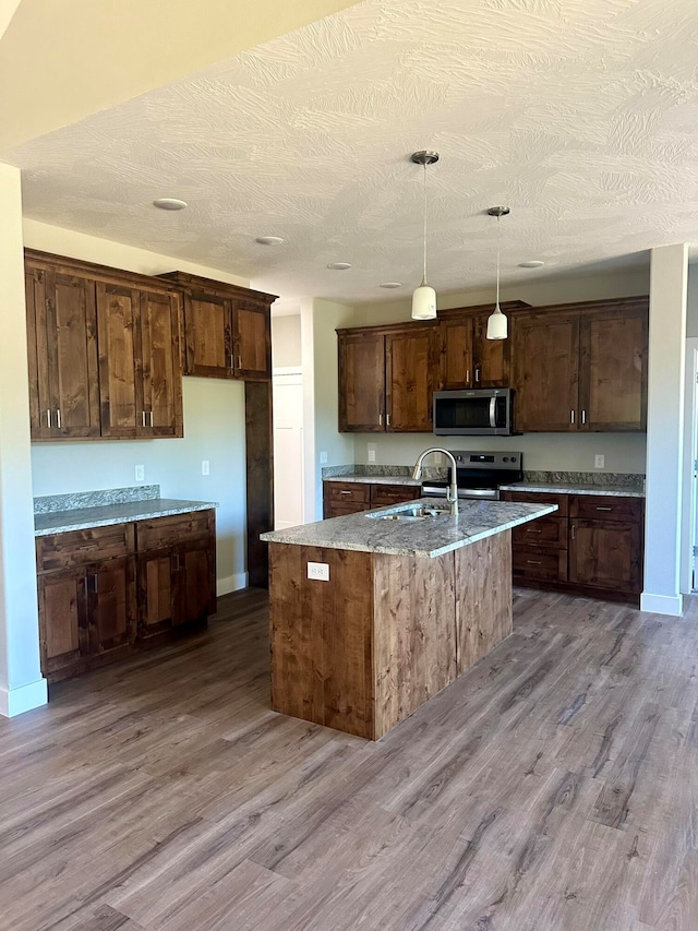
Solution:
<svg viewBox="0 0 698 931">
<path fill-rule="evenodd" d="M 49 681 L 205 624 L 216 610 L 213 510 L 39 537 L 36 551 Z"/>
</svg>

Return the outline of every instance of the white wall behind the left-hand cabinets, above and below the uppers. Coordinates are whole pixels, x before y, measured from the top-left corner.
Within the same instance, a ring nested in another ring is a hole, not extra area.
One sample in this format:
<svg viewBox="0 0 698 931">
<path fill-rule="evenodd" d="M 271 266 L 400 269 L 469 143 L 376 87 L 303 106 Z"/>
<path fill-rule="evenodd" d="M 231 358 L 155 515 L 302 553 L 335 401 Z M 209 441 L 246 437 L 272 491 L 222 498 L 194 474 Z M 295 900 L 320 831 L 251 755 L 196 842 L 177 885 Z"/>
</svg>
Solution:
<svg viewBox="0 0 698 931">
<path fill-rule="evenodd" d="M 143 274 L 179 268 L 245 287 L 245 279 L 181 263 L 168 255 L 25 220 L 25 246 Z M 164 497 L 218 503 L 218 593 L 245 585 L 244 384 L 217 379 L 183 380 L 184 439 L 34 443 L 34 494 L 61 494 L 135 485 L 145 465 L 147 484 Z M 210 474 L 202 476 L 201 461 Z"/>
</svg>

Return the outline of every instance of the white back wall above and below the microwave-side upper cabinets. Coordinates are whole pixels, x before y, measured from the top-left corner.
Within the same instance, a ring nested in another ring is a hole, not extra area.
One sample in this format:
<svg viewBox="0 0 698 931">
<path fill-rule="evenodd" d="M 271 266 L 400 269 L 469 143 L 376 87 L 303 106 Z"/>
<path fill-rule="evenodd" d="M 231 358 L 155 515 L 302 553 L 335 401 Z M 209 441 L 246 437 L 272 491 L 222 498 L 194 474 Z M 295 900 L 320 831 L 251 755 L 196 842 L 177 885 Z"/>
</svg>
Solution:
<svg viewBox="0 0 698 931">
<path fill-rule="evenodd" d="M 502 289 L 502 300 L 525 300 L 532 307 L 599 300 L 610 297 L 631 297 L 649 294 L 649 260 L 647 268 L 615 275 L 578 278 L 531 278 L 520 285 Z M 494 301 L 494 289 L 438 295 L 438 307 L 474 307 Z M 395 323 L 410 319 L 410 301 L 401 299 L 385 303 L 361 305 L 354 309 L 351 325 Z M 698 323 L 697 323 L 698 326 Z M 372 445 L 376 463 L 411 465 L 419 453 L 436 442 L 448 449 L 520 450 L 524 467 L 532 470 L 592 472 L 594 455 L 605 456 L 605 466 L 598 472 L 645 473 L 646 435 L 643 433 L 526 433 L 522 437 L 434 437 L 433 433 L 357 434 L 354 462 L 366 463 Z"/>
</svg>

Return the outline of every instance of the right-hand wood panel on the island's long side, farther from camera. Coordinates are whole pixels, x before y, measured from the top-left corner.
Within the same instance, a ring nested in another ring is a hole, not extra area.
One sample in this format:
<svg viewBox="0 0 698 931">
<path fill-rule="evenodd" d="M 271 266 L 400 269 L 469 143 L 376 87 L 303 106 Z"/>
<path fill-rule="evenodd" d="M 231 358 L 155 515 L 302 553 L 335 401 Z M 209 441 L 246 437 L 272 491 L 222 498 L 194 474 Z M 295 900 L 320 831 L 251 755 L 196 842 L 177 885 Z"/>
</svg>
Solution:
<svg viewBox="0 0 698 931">
<path fill-rule="evenodd" d="M 454 552 L 458 675 L 512 633 L 512 532 Z"/>
</svg>

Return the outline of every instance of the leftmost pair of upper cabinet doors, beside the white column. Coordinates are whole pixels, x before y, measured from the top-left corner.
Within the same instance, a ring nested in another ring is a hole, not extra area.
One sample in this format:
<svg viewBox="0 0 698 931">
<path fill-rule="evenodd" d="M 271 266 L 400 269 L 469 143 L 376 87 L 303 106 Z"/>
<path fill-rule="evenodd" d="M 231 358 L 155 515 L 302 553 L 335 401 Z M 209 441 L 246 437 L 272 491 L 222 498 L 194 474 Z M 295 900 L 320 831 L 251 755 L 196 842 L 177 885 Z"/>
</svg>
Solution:
<svg viewBox="0 0 698 931">
<path fill-rule="evenodd" d="M 32 439 L 98 437 L 94 282 L 29 267 L 25 283 Z"/>
</svg>

